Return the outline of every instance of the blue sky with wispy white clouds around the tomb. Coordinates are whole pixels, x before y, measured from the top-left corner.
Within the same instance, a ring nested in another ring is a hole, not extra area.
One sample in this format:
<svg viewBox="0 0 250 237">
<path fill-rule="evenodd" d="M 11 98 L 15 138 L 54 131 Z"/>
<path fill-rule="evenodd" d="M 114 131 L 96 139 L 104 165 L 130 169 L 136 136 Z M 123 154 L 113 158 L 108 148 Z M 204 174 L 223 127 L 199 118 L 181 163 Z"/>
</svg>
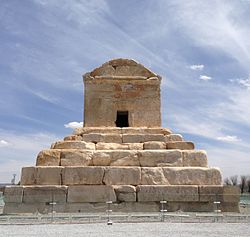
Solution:
<svg viewBox="0 0 250 237">
<path fill-rule="evenodd" d="M 163 77 L 163 127 L 224 177 L 250 175 L 249 12 L 249 0 L 0 0 L 0 182 L 72 132 L 82 74 L 113 58 Z"/>
</svg>

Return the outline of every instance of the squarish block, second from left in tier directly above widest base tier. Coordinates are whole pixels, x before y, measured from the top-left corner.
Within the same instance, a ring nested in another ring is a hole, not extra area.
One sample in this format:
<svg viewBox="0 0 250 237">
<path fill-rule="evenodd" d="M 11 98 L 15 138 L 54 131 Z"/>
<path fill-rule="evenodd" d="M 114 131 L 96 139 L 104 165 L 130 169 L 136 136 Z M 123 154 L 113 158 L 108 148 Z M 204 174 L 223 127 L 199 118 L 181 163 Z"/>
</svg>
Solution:
<svg viewBox="0 0 250 237">
<path fill-rule="evenodd" d="M 60 166 L 37 166 L 36 184 L 37 185 L 61 185 L 61 174 L 63 167 Z"/>
</svg>

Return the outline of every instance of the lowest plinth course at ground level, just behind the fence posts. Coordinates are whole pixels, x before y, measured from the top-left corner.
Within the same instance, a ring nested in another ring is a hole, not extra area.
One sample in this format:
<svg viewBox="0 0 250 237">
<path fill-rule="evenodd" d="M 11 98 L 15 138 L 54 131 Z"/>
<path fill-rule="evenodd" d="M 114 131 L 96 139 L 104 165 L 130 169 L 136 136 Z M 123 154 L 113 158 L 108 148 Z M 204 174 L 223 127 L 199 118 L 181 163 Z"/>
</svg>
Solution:
<svg viewBox="0 0 250 237">
<path fill-rule="evenodd" d="M 168 212 L 214 212 L 219 208 L 221 212 L 239 212 L 238 203 L 220 203 L 219 207 L 213 202 L 167 202 L 164 209 Z M 20 213 L 90 213 L 106 212 L 106 203 L 57 203 L 53 207 L 49 203 L 6 203 L 3 214 Z M 112 203 L 113 212 L 159 212 L 159 202 L 121 202 Z"/>
</svg>

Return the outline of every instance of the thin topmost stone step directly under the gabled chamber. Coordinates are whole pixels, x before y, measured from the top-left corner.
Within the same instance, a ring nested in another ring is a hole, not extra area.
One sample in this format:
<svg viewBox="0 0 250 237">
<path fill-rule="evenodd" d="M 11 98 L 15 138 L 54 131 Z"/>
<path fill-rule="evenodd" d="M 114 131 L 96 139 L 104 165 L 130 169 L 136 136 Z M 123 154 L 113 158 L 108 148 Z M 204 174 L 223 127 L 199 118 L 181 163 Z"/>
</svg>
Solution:
<svg viewBox="0 0 250 237">
<path fill-rule="evenodd" d="M 163 134 L 168 135 L 172 132 L 168 128 L 148 128 L 148 127 L 83 127 L 77 128 L 73 132 L 75 135 L 83 135 L 89 133 L 114 133 L 114 134 Z"/>
</svg>

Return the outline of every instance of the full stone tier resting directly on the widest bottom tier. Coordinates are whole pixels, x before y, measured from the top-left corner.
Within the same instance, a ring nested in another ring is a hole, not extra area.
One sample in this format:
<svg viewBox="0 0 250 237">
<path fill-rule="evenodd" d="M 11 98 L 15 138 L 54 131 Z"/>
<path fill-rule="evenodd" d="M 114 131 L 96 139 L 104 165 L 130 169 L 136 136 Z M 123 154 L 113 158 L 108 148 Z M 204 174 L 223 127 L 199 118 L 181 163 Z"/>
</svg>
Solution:
<svg viewBox="0 0 250 237">
<path fill-rule="evenodd" d="M 21 185 L 221 185 L 217 168 L 204 167 L 24 167 Z"/>
</svg>

